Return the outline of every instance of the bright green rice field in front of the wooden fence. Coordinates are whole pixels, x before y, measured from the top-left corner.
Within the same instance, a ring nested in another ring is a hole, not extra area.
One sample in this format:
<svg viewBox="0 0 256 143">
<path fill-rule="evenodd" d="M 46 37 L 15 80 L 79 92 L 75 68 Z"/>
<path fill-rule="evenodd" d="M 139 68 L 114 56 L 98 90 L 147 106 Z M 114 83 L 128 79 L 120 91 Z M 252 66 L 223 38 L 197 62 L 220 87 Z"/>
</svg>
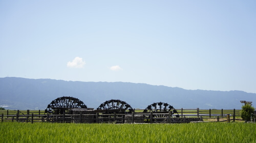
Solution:
<svg viewBox="0 0 256 143">
<path fill-rule="evenodd" d="M 256 142 L 256 124 L 0 123 L 0 142 Z"/>
</svg>

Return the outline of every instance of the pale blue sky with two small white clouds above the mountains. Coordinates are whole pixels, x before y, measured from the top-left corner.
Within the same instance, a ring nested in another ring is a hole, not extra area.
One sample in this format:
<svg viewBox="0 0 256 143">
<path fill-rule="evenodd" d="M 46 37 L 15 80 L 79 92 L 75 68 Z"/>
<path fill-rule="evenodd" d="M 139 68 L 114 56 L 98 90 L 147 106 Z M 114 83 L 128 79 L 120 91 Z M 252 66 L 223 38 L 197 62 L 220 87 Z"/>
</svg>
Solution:
<svg viewBox="0 0 256 143">
<path fill-rule="evenodd" d="M 0 1 L 0 77 L 256 93 L 256 1 Z"/>
</svg>

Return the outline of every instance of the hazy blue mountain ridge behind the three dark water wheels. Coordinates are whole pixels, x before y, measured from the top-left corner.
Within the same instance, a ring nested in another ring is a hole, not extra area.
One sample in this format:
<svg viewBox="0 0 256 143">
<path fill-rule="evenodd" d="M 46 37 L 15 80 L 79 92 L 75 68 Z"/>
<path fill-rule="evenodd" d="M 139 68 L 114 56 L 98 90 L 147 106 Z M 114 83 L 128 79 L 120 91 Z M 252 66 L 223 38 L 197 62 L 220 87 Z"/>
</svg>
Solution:
<svg viewBox="0 0 256 143">
<path fill-rule="evenodd" d="M 52 100 L 61 96 L 78 98 L 92 108 L 111 99 L 123 100 L 133 108 L 167 102 L 175 108 L 240 109 L 240 100 L 256 103 L 256 94 L 243 91 L 184 90 L 129 82 L 0 78 L 0 105 L 6 109 L 46 109 Z"/>
</svg>

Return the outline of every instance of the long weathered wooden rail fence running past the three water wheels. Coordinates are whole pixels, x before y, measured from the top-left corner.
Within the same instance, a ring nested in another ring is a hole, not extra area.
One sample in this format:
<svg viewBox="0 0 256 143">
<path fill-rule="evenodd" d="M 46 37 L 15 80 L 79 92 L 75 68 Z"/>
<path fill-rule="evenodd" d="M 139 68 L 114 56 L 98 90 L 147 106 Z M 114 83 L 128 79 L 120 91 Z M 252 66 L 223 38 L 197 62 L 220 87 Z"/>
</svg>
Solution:
<svg viewBox="0 0 256 143">
<path fill-rule="evenodd" d="M 135 109 L 131 114 L 93 114 L 78 115 L 51 115 L 45 110 L 0 110 L 1 122 L 65 122 L 65 123 L 188 123 L 203 121 L 204 119 L 217 119 L 217 122 L 241 120 L 240 110 L 212 110 L 212 109 L 176 109 L 180 118 L 174 118 L 172 112 L 142 112 L 143 109 Z M 158 117 L 156 118 L 156 115 Z M 160 118 L 159 118 L 159 115 Z M 224 119 L 220 121 L 220 119 Z"/>
</svg>

